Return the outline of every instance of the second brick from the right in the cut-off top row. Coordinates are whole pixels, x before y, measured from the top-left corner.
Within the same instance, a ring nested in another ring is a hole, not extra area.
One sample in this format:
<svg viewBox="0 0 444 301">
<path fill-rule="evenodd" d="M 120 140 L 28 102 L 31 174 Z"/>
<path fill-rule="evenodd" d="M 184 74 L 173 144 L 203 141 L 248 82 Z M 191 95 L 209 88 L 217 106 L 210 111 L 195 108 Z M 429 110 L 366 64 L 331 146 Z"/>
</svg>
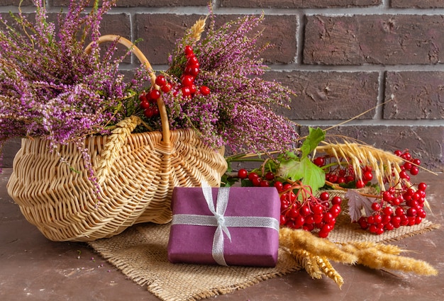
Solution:
<svg viewBox="0 0 444 301">
<path fill-rule="evenodd" d="M 333 8 L 362 7 L 381 4 L 382 0 L 221 0 L 221 7 L 248 8 Z"/>
</svg>

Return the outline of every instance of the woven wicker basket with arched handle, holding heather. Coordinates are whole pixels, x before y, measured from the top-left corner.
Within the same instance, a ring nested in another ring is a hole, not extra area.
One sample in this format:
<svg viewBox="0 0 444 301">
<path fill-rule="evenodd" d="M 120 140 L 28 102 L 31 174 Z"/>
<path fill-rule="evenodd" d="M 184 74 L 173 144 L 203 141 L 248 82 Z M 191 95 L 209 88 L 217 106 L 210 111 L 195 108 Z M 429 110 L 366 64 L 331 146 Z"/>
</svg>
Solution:
<svg viewBox="0 0 444 301">
<path fill-rule="evenodd" d="M 116 39 L 133 47 L 151 69 L 129 40 L 106 35 L 100 42 Z M 99 192 L 74 144 L 50 154 L 48 140 L 24 138 L 7 188 L 26 219 L 53 241 L 93 241 L 112 237 L 135 223 L 169 222 L 174 186 L 200 186 L 204 181 L 219 186 L 227 167 L 223 149 L 206 146 L 194 130 L 170 130 L 161 98 L 157 104 L 162 132 L 131 134 L 140 123 L 132 116 L 118 123 L 111 135 L 85 140 Z"/>
</svg>

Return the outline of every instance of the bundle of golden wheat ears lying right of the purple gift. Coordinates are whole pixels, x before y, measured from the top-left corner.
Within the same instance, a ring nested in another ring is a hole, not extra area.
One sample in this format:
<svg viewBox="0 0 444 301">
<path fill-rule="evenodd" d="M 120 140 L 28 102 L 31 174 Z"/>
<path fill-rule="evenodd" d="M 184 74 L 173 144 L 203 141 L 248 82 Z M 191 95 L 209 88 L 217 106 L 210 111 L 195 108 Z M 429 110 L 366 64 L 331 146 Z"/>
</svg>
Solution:
<svg viewBox="0 0 444 301">
<path fill-rule="evenodd" d="M 294 256 L 299 268 L 304 268 L 313 279 L 323 275 L 331 278 L 339 288 L 344 283 L 330 260 L 345 264 L 362 264 L 369 268 L 412 272 L 423 276 L 436 276 L 435 270 L 426 261 L 400 256 L 406 251 L 398 246 L 374 242 L 346 242 L 336 244 L 328 239 L 314 236 L 302 229 L 282 227 L 279 244 Z"/>
</svg>

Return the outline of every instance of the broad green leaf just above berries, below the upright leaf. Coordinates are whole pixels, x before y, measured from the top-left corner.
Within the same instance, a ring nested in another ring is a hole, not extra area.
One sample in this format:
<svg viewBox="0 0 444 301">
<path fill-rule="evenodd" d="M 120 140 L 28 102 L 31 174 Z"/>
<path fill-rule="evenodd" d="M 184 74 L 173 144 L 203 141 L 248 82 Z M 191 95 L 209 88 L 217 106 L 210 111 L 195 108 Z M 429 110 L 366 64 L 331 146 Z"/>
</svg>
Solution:
<svg viewBox="0 0 444 301">
<path fill-rule="evenodd" d="M 310 186 L 313 192 L 318 191 L 326 183 L 323 169 L 313 164 L 308 157 L 301 161 L 295 159 L 282 161 L 278 175 L 282 178 L 291 178 L 293 181 L 301 180 L 304 185 Z"/>
</svg>

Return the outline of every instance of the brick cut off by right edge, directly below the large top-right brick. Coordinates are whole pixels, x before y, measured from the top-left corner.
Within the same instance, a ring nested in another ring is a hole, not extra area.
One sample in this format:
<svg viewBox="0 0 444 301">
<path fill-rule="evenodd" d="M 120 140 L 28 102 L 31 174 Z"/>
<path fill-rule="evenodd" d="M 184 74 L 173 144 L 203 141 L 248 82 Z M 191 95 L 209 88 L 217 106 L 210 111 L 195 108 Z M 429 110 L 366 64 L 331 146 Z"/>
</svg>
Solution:
<svg viewBox="0 0 444 301">
<path fill-rule="evenodd" d="M 444 72 L 387 72 L 384 119 L 444 119 Z"/>
</svg>

